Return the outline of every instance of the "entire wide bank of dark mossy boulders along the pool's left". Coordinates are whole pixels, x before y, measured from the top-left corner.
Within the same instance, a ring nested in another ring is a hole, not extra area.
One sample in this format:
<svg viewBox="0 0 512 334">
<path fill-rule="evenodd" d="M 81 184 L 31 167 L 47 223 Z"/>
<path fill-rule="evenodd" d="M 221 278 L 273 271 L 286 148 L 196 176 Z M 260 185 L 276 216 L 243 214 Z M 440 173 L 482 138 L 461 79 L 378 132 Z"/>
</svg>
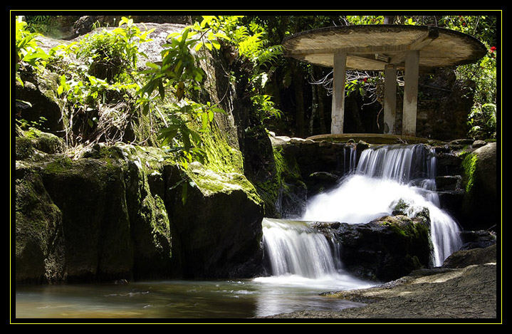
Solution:
<svg viewBox="0 0 512 334">
<path fill-rule="evenodd" d="M 71 160 L 17 143 L 16 281 L 261 272 L 263 203 L 243 174 L 184 172 L 155 147 L 95 145 Z"/>
</svg>

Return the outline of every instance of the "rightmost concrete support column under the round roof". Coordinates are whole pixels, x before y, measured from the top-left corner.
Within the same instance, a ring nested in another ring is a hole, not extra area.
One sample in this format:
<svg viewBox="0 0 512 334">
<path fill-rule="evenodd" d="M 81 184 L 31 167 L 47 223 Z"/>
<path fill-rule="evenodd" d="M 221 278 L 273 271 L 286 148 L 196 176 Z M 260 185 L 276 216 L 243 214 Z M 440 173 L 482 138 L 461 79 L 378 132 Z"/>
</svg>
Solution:
<svg viewBox="0 0 512 334">
<path fill-rule="evenodd" d="M 416 135 L 416 113 L 418 109 L 419 50 L 405 54 L 404 111 L 402 135 Z"/>
</svg>

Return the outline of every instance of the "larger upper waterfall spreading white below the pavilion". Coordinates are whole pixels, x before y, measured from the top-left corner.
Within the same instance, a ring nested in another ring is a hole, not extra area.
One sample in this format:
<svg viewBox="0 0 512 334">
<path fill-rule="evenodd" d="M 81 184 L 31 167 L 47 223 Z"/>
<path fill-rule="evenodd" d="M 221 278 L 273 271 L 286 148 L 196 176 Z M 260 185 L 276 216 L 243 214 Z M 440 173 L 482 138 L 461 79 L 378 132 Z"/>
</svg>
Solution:
<svg viewBox="0 0 512 334">
<path fill-rule="evenodd" d="M 318 194 L 308 202 L 303 220 L 367 223 L 389 215 L 402 199 L 413 217 L 423 207 L 430 213 L 433 262 L 444 259 L 461 246 L 456 222 L 439 208 L 435 192 L 435 156 L 424 145 L 385 145 L 361 152 L 355 171 L 338 187 Z"/>
</svg>

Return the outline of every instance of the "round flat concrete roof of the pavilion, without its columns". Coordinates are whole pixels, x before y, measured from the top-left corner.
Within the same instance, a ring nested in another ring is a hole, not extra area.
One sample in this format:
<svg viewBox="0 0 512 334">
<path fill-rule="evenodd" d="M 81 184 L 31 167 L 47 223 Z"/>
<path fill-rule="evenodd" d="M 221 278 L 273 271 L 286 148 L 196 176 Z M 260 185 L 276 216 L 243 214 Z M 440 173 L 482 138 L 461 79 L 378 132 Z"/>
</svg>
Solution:
<svg viewBox="0 0 512 334">
<path fill-rule="evenodd" d="M 347 69 L 383 71 L 404 68 L 405 51 L 419 50 L 420 71 L 474 63 L 487 53 L 476 38 L 445 28 L 412 25 L 333 26 L 284 38 L 286 56 L 333 67 L 333 53 L 345 50 Z"/>
</svg>

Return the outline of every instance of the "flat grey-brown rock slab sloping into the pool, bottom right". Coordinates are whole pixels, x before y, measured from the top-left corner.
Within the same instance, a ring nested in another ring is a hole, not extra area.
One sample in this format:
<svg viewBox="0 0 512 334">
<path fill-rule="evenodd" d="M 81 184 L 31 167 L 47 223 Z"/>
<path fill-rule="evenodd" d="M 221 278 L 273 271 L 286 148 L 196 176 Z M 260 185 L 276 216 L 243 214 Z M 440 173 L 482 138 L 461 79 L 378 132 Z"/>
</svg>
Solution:
<svg viewBox="0 0 512 334">
<path fill-rule="evenodd" d="M 499 321 L 498 284 L 496 245 L 493 245 L 457 251 L 442 267 L 412 271 L 381 286 L 323 294 L 325 298 L 365 303 L 362 307 L 340 311 L 302 310 L 266 318 L 422 318 L 441 323 L 455 318 L 481 318 Z"/>
</svg>

